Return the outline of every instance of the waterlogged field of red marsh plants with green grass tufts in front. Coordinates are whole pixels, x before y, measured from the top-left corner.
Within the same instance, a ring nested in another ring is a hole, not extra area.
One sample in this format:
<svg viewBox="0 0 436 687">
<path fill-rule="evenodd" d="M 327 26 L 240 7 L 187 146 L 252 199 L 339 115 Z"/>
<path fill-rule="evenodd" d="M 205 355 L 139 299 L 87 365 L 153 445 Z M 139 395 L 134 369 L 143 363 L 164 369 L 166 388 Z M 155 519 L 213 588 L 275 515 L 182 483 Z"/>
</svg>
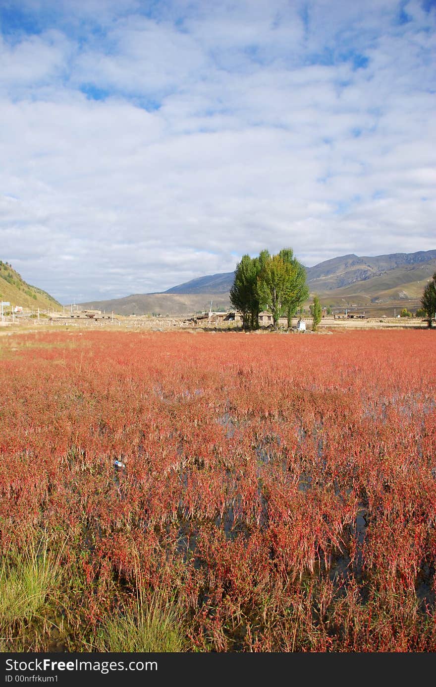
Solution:
<svg viewBox="0 0 436 687">
<path fill-rule="evenodd" d="M 1 651 L 435 651 L 435 343 L 2 337 Z"/>
</svg>

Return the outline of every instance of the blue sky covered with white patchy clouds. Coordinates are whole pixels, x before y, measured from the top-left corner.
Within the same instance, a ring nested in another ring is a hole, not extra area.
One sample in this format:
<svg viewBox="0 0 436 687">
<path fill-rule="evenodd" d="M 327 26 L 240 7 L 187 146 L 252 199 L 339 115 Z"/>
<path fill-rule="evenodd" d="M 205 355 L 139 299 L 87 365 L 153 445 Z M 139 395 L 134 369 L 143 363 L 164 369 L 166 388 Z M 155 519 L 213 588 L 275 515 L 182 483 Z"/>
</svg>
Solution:
<svg viewBox="0 0 436 687">
<path fill-rule="evenodd" d="M 436 248 L 436 0 L 1 0 L 0 257 L 60 302 Z"/>
</svg>

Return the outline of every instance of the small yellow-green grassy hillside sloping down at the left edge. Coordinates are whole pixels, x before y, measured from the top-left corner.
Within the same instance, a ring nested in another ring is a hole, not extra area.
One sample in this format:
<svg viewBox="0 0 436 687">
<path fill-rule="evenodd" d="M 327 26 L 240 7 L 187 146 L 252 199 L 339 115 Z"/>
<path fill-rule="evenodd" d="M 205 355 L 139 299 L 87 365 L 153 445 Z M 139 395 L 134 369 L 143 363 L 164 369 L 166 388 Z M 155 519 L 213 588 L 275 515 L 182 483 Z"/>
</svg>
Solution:
<svg viewBox="0 0 436 687">
<path fill-rule="evenodd" d="M 11 306 L 25 309 L 60 310 L 62 306 L 49 293 L 27 284 L 8 262 L 0 260 L 0 300 L 9 301 Z"/>
</svg>

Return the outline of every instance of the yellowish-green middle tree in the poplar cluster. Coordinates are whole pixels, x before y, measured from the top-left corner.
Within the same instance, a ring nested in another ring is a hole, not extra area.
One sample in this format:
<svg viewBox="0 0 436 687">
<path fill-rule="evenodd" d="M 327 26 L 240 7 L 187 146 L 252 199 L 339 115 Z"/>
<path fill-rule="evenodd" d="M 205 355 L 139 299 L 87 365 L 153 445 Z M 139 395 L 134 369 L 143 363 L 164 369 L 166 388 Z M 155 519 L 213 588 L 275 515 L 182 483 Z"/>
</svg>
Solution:
<svg viewBox="0 0 436 687">
<path fill-rule="evenodd" d="M 279 317 L 295 295 L 295 277 L 295 265 L 277 254 L 269 256 L 257 278 L 260 306 L 273 315 L 275 330 L 279 325 Z"/>
</svg>

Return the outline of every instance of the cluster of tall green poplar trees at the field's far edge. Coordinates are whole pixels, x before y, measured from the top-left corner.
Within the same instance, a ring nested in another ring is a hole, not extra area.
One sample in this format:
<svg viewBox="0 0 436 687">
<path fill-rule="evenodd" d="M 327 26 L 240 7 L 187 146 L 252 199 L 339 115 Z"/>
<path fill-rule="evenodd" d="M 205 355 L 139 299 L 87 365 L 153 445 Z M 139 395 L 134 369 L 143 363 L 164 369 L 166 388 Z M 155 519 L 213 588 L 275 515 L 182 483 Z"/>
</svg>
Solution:
<svg viewBox="0 0 436 687">
<path fill-rule="evenodd" d="M 257 258 L 244 255 L 236 265 L 230 301 L 242 313 L 244 328 L 257 329 L 259 313 L 264 310 L 273 315 L 275 329 L 282 315 L 286 315 L 290 327 L 292 317 L 308 297 L 306 269 L 291 248 L 277 255 L 264 250 Z"/>
</svg>

